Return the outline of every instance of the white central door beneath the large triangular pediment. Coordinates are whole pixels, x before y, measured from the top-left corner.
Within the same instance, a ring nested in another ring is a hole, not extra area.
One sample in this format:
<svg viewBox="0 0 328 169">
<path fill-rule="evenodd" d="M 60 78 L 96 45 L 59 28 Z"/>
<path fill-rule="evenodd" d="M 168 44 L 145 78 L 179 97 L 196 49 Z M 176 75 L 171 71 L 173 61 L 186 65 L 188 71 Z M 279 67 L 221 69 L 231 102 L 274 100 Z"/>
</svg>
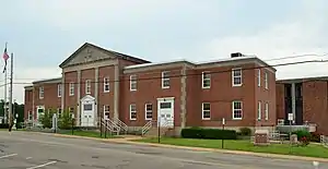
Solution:
<svg viewBox="0 0 328 169">
<path fill-rule="evenodd" d="M 94 126 L 94 102 L 83 104 L 82 126 Z"/>
</svg>

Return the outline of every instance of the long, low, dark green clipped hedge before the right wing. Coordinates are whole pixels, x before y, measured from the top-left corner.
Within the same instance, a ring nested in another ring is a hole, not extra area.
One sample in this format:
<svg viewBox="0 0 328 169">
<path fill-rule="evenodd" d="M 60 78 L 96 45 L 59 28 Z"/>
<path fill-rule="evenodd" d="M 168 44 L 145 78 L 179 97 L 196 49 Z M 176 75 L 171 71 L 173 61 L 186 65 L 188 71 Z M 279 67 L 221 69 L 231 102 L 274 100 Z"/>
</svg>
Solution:
<svg viewBox="0 0 328 169">
<path fill-rule="evenodd" d="M 237 134 L 234 130 L 189 128 L 181 130 L 181 137 L 207 140 L 236 140 Z"/>
</svg>

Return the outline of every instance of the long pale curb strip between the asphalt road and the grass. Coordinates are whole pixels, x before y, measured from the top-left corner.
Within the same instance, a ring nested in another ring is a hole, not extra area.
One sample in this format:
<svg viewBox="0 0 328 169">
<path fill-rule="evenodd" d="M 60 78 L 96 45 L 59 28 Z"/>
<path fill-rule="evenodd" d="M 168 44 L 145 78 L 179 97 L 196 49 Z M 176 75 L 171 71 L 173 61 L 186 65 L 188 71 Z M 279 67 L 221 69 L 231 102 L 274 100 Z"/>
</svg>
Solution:
<svg viewBox="0 0 328 169">
<path fill-rule="evenodd" d="M 37 133 L 37 132 L 34 132 Z M 304 156 L 294 156 L 294 155 L 279 155 L 279 154 L 266 154 L 266 153 L 254 153 L 254 152 L 243 152 L 243 150 L 229 150 L 229 149 L 215 149 L 215 148 L 203 148 L 203 147 L 188 147 L 188 146 L 177 146 L 177 145 L 168 145 L 168 144 L 156 144 L 156 143 L 142 143 L 142 142 L 132 142 L 129 138 L 97 138 L 97 137 L 86 137 L 86 136 L 78 136 L 78 135 L 65 135 L 65 134 L 51 134 L 51 133 L 38 133 L 46 135 L 54 135 L 58 137 L 70 137 L 70 138 L 84 138 L 84 140 L 93 140 L 101 141 L 107 143 L 117 143 L 117 144 L 132 144 L 132 145 L 144 145 L 152 147 L 165 147 L 165 148 L 178 148 L 178 149 L 188 149 L 188 150 L 198 150 L 198 152 L 214 152 L 214 153 L 223 153 L 223 154 L 234 154 L 234 155 L 249 155 L 257 157 L 266 157 L 266 158 L 282 158 L 282 159 L 292 159 L 292 160 L 307 160 L 307 161 L 319 161 L 319 162 L 328 162 L 328 158 L 317 158 L 317 157 L 304 157 Z"/>
</svg>

